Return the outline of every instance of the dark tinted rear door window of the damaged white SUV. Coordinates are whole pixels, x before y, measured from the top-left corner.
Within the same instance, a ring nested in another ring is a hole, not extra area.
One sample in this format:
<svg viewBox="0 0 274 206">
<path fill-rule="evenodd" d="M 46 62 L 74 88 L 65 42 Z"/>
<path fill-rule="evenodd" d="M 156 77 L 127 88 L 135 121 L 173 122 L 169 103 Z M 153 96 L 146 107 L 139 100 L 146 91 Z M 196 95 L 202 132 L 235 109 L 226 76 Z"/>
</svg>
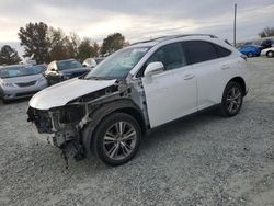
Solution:
<svg viewBox="0 0 274 206">
<path fill-rule="evenodd" d="M 218 55 L 212 43 L 205 41 L 187 41 L 183 45 L 189 52 L 192 64 L 217 59 Z"/>
</svg>

